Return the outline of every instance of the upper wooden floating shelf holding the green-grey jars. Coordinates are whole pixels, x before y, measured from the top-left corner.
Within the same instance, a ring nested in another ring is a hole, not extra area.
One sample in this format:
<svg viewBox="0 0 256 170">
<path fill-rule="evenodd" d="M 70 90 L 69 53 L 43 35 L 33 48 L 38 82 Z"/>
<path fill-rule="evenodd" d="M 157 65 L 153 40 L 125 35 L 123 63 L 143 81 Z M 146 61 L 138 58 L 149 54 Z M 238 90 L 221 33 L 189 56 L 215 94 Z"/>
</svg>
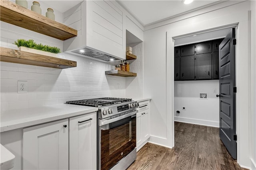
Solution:
<svg viewBox="0 0 256 170">
<path fill-rule="evenodd" d="M 0 0 L 0 12 L 1 21 L 50 37 L 66 40 L 77 36 L 77 30 L 46 18 L 9 0 Z"/>
</svg>

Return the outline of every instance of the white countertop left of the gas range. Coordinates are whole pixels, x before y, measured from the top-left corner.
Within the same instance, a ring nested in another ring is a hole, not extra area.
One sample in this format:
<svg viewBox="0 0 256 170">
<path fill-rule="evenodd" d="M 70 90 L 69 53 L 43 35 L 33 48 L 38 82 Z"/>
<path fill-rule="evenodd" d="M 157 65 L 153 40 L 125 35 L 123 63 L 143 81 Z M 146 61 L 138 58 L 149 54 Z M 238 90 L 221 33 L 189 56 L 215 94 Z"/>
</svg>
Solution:
<svg viewBox="0 0 256 170">
<path fill-rule="evenodd" d="M 1 112 L 1 132 L 98 111 L 98 107 L 58 104 Z"/>
</svg>

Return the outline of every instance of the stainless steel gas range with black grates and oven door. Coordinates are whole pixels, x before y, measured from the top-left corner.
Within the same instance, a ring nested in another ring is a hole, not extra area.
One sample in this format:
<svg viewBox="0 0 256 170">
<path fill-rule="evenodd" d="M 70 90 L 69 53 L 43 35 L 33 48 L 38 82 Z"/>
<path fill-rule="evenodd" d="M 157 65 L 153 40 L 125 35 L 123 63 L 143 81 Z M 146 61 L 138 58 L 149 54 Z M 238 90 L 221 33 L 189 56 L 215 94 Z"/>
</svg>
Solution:
<svg viewBox="0 0 256 170">
<path fill-rule="evenodd" d="M 66 104 L 98 107 L 98 169 L 126 169 L 134 162 L 138 102 L 125 98 L 96 98 Z"/>
</svg>

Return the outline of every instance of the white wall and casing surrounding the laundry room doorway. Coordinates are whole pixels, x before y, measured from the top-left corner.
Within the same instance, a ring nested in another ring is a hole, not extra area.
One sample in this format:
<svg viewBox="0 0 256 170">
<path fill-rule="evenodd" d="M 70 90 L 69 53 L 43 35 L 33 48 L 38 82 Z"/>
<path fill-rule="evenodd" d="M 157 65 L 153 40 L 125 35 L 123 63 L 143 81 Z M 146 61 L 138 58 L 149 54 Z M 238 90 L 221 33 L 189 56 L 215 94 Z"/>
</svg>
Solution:
<svg viewBox="0 0 256 170">
<path fill-rule="evenodd" d="M 247 90 L 249 82 L 247 47 L 250 46 L 248 10 L 250 10 L 250 1 L 228 1 L 146 28 L 147 30 L 144 31 L 144 56 L 146 56 L 144 57 L 144 94 L 152 97 L 150 141 L 167 147 L 174 146 L 173 39 L 181 35 L 192 35 L 200 31 L 239 23 L 236 45 L 237 160 L 241 166 L 250 168 Z"/>
</svg>

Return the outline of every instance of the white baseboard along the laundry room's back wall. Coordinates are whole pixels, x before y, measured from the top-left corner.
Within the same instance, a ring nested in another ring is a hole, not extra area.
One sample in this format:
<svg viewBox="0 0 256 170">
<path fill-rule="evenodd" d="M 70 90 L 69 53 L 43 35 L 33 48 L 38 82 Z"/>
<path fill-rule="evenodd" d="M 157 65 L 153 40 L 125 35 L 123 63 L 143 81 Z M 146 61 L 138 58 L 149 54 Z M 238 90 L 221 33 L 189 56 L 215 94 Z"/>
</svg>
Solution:
<svg viewBox="0 0 256 170">
<path fill-rule="evenodd" d="M 191 119 L 186 117 L 176 117 L 174 116 L 174 121 L 179 121 L 183 123 L 192 123 L 196 125 L 204 125 L 204 126 L 211 126 L 211 127 L 219 127 L 218 121 L 207 121 L 207 120 L 201 120 L 201 119 Z"/>
</svg>

